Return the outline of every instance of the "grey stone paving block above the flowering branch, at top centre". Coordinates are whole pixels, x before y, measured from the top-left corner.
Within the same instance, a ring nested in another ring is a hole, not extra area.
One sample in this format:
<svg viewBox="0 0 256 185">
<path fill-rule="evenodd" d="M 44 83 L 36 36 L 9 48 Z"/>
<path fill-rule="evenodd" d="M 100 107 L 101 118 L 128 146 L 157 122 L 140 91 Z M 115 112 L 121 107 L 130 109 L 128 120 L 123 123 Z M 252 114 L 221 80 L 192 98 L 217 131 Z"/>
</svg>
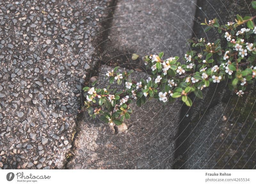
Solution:
<svg viewBox="0 0 256 185">
<path fill-rule="evenodd" d="M 134 63 L 127 67 L 139 68 L 144 66 L 142 59 L 148 54 L 163 51 L 164 57 L 183 56 L 188 50 L 187 39 L 193 34 L 191 16 L 195 11 L 195 0 L 118 1 L 103 62 Z M 131 60 L 129 53 L 140 57 Z"/>
</svg>

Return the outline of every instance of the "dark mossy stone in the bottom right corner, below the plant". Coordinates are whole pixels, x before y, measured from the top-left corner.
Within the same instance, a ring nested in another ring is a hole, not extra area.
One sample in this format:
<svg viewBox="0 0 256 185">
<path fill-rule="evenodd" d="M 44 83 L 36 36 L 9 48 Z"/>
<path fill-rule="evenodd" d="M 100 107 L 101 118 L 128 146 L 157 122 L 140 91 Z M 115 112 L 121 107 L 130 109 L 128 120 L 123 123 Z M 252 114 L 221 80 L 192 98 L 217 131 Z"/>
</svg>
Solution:
<svg viewBox="0 0 256 185">
<path fill-rule="evenodd" d="M 239 101 L 244 103 L 244 100 Z M 239 106 L 236 107 L 236 102 L 220 102 L 200 120 L 191 122 L 179 168 L 255 169 L 256 147 L 252 144 L 256 141 L 255 107 L 248 107 L 250 113 L 242 115 L 237 112 Z"/>
</svg>

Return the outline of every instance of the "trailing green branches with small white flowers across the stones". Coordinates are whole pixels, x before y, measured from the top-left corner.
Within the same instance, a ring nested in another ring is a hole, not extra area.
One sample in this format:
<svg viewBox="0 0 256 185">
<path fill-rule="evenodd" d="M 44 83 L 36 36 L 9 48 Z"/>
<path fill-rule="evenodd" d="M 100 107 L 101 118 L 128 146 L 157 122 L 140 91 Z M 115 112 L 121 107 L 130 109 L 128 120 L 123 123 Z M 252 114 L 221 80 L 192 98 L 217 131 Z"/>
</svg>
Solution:
<svg viewBox="0 0 256 185">
<path fill-rule="evenodd" d="M 256 9 L 256 2 L 252 2 Z M 256 76 L 256 26 L 253 23 L 254 17 L 242 18 L 236 16 L 235 22 L 228 22 L 220 25 L 217 18 L 205 19 L 205 32 L 217 29 L 222 33 L 221 38 L 225 39 L 225 47 L 220 46 L 220 39 L 212 43 L 206 43 L 204 38 L 189 40 L 192 43 L 183 60 L 179 57 L 164 58 L 164 53 L 144 57 L 147 69 L 151 69 L 151 76 L 148 79 L 141 79 L 135 82 L 130 75 L 133 72 L 118 72 L 118 67 L 108 71 L 106 77 L 109 83 L 123 85 L 122 91 L 105 87 L 84 87 L 84 110 L 93 118 L 100 119 L 109 125 L 121 125 L 124 119 L 129 119 L 132 109 L 129 106 L 132 101 L 140 107 L 146 99 L 156 98 L 160 102 L 172 102 L 175 98 L 191 106 L 192 101 L 188 97 L 194 93 L 196 97 L 203 98 L 202 89 L 208 87 L 210 82 L 219 83 L 228 81 L 229 89 L 238 96 L 243 96 L 248 84 Z M 200 52 L 197 52 L 200 51 Z M 92 83 L 95 86 L 97 81 Z"/>
</svg>

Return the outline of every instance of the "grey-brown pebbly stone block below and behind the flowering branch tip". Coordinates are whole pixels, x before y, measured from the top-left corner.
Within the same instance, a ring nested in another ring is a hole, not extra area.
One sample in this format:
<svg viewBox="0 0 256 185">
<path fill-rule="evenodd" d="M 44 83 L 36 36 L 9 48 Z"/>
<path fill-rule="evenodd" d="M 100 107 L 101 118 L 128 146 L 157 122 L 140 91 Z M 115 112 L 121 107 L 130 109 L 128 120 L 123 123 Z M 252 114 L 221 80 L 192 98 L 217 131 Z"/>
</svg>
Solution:
<svg viewBox="0 0 256 185">
<path fill-rule="evenodd" d="M 104 76 L 112 68 L 100 71 L 100 87 L 108 83 Z M 124 68 L 121 68 L 123 71 Z M 147 79 L 141 72 L 135 79 Z M 125 121 L 128 132 L 115 134 L 113 126 L 92 120 L 87 113 L 79 121 L 74 157 L 67 164 L 70 169 L 172 169 L 175 138 L 180 117 L 180 100 L 163 106 L 155 100 L 141 108 L 131 104 L 131 120 Z"/>
</svg>

